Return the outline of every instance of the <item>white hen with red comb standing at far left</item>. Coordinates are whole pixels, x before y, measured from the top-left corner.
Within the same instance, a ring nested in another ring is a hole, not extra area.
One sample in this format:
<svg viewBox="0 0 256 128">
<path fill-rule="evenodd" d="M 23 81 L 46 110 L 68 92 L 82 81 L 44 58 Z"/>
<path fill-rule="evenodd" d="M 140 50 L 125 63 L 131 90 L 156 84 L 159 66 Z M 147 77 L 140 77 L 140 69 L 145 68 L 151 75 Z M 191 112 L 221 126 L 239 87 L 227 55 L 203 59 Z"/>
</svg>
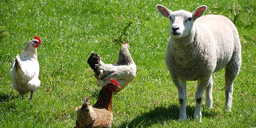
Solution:
<svg viewBox="0 0 256 128">
<path fill-rule="evenodd" d="M 18 91 L 21 96 L 30 92 L 30 99 L 32 99 L 33 92 L 36 92 L 41 84 L 38 79 L 39 63 L 36 48 L 43 43 L 41 43 L 38 36 L 34 38 L 34 40 L 29 41 L 24 47 L 20 56 L 17 54 L 12 70 L 9 72 L 13 88 Z"/>
</svg>

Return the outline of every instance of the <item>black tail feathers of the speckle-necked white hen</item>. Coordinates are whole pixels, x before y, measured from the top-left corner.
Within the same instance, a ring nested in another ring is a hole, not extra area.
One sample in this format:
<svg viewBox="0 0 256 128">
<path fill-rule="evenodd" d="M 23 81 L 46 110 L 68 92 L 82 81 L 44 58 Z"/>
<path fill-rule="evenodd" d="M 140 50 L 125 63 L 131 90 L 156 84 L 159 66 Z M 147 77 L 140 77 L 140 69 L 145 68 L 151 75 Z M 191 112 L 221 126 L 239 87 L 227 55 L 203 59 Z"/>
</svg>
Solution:
<svg viewBox="0 0 256 128">
<path fill-rule="evenodd" d="M 93 69 L 93 72 L 95 73 L 95 78 L 98 79 L 100 75 L 99 64 L 103 63 L 100 56 L 97 53 L 93 52 L 92 55 L 88 58 L 87 63 Z"/>
</svg>

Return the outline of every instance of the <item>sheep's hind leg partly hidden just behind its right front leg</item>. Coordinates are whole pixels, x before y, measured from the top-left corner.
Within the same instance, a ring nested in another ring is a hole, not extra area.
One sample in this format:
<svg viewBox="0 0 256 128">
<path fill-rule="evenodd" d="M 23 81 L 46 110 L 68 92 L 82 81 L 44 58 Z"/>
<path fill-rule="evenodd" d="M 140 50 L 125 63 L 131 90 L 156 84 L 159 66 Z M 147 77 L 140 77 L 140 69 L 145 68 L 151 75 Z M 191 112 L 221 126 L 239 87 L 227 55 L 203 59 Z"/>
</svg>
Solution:
<svg viewBox="0 0 256 128">
<path fill-rule="evenodd" d="M 211 76 L 211 80 L 205 90 L 205 104 L 207 105 L 208 108 L 212 108 L 212 85 L 213 85 L 213 81 L 212 81 L 212 76 Z"/>
</svg>

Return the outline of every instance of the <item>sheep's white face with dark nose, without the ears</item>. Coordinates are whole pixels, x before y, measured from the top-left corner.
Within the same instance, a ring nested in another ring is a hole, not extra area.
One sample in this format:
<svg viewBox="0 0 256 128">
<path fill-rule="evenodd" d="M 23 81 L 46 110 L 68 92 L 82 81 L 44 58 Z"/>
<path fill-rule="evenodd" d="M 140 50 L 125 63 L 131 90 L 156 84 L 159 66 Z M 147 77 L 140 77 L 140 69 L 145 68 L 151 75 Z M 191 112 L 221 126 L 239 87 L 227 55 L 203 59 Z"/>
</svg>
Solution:
<svg viewBox="0 0 256 128">
<path fill-rule="evenodd" d="M 192 13 L 184 10 L 172 12 L 170 18 L 170 35 L 181 38 L 189 35 L 193 26 Z"/>
</svg>

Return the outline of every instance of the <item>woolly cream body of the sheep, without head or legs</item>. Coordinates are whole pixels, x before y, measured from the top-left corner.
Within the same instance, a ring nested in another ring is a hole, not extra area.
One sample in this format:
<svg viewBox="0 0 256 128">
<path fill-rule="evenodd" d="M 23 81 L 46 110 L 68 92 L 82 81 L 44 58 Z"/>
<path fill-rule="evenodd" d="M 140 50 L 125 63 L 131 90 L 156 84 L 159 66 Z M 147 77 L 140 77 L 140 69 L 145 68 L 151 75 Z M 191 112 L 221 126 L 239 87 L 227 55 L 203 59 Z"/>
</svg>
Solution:
<svg viewBox="0 0 256 128">
<path fill-rule="evenodd" d="M 166 49 L 165 62 L 170 75 L 183 80 L 209 77 L 224 68 L 232 57 L 235 40 L 239 39 L 235 25 L 221 15 L 202 16 L 194 22 L 193 28 L 196 42 L 192 41 L 182 50 L 175 46 L 181 40 L 171 37 Z"/>
</svg>

